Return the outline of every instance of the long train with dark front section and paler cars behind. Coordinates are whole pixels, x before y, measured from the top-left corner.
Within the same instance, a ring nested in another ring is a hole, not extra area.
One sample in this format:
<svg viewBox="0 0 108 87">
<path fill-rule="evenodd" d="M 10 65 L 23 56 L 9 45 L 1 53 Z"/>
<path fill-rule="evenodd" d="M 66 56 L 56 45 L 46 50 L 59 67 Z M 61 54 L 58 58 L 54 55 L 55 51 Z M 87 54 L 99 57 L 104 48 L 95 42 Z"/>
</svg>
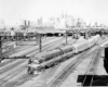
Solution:
<svg viewBox="0 0 108 87">
<path fill-rule="evenodd" d="M 28 60 L 28 74 L 38 75 L 45 69 L 57 65 L 58 63 L 69 59 L 72 55 L 92 48 L 99 40 L 99 35 L 93 36 L 90 39 L 73 45 L 55 48 L 35 54 Z"/>
</svg>

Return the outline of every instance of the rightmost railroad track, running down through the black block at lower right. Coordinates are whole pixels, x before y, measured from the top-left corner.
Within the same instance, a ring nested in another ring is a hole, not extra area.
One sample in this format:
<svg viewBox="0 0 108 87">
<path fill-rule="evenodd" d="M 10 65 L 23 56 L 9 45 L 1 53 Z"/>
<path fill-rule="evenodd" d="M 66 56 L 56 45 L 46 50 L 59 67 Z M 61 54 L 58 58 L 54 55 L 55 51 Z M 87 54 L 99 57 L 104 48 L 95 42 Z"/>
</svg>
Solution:
<svg viewBox="0 0 108 87">
<path fill-rule="evenodd" d="M 84 78 L 82 80 L 82 86 L 93 86 L 93 83 L 95 80 L 95 75 L 96 75 L 96 71 L 97 71 L 97 65 L 98 65 L 98 61 L 100 59 L 100 52 L 102 52 L 102 48 L 99 48 L 97 50 L 97 52 L 95 53 L 93 60 L 91 61 L 85 74 L 84 74 Z"/>
</svg>

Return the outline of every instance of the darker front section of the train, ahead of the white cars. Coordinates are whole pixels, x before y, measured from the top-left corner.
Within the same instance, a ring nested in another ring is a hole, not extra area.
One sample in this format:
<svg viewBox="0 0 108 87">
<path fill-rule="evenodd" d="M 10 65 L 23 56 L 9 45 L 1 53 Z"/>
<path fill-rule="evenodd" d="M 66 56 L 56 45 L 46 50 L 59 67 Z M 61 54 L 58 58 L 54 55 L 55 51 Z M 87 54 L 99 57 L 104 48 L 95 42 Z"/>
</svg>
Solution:
<svg viewBox="0 0 108 87">
<path fill-rule="evenodd" d="M 28 73 L 29 74 L 32 73 L 32 71 L 33 71 L 35 67 L 38 67 L 39 69 L 40 67 L 39 66 L 40 64 L 42 64 L 41 66 L 43 66 L 46 62 L 49 63 L 52 60 L 56 60 L 56 58 L 58 55 L 62 55 L 62 54 L 65 54 L 65 53 L 68 53 L 68 52 L 73 51 L 73 48 L 72 47 L 73 46 L 66 46 L 66 47 L 63 47 L 63 48 L 55 48 L 54 50 L 44 51 L 42 53 L 39 53 L 39 54 L 32 57 L 28 61 Z M 36 69 L 36 70 L 38 70 L 38 69 Z"/>
</svg>

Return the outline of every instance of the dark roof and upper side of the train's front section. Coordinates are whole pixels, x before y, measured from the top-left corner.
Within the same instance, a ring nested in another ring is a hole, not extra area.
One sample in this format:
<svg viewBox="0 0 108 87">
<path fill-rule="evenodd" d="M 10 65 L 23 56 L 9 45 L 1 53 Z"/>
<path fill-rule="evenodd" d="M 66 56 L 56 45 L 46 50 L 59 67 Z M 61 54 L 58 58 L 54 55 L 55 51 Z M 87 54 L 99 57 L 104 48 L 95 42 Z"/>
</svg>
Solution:
<svg viewBox="0 0 108 87">
<path fill-rule="evenodd" d="M 42 63 L 42 62 L 52 60 L 58 55 L 62 55 L 64 53 L 70 52 L 72 50 L 73 50 L 72 46 L 66 46 L 63 48 L 55 48 L 53 50 L 48 50 L 48 51 L 44 51 L 42 53 L 39 53 L 39 54 L 32 57 L 30 60 L 37 59 L 39 63 Z M 29 60 L 29 62 L 30 62 L 30 60 Z"/>
</svg>

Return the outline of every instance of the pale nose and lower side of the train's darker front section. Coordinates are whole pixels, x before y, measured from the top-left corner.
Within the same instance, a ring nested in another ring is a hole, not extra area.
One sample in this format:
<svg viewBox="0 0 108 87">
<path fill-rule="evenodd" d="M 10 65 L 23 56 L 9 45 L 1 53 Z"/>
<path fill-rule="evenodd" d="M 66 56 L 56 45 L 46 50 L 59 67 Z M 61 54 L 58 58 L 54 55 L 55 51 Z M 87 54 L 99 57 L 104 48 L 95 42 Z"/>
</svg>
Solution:
<svg viewBox="0 0 108 87">
<path fill-rule="evenodd" d="M 67 57 L 68 55 L 68 57 Z M 40 72 L 50 69 L 54 65 L 57 65 L 60 62 L 64 62 L 65 60 L 69 59 L 71 55 L 73 55 L 73 52 L 69 52 L 68 54 L 64 54 L 62 57 L 57 57 L 56 59 L 52 59 L 48 62 L 39 63 L 37 61 L 33 61 L 32 64 L 28 65 L 28 73 L 29 74 L 39 74 Z"/>
</svg>

